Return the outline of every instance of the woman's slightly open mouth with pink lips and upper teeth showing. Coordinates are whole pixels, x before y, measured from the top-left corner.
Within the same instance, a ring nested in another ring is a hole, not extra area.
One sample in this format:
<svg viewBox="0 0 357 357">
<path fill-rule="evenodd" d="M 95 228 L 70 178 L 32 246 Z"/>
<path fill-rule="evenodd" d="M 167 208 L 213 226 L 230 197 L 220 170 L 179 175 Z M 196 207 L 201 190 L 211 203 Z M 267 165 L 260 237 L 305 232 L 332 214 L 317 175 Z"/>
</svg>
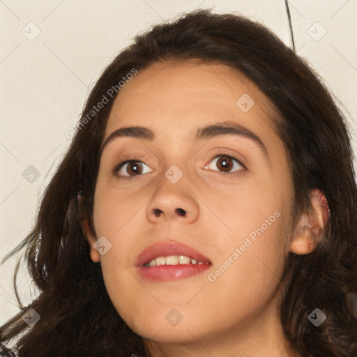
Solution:
<svg viewBox="0 0 357 357">
<path fill-rule="evenodd" d="M 175 241 L 155 243 L 137 257 L 140 275 L 153 282 L 190 278 L 211 265 L 211 261 L 200 252 Z"/>
</svg>

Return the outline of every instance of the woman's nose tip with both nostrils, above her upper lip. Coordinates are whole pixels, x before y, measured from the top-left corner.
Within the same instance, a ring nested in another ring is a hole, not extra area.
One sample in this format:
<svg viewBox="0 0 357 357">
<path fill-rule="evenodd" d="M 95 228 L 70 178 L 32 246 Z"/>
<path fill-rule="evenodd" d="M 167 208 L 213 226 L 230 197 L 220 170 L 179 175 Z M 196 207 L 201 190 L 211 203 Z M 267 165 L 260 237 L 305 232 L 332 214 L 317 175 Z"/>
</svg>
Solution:
<svg viewBox="0 0 357 357">
<path fill-rule="evenodd" d="M 150 222 L 162 220 L 183 220 L 186 223 L 195 222 L 199 217 L 199 204 L 196 196 L 185 185 L 183 179 L 171 183 L 164 176 L 162 185 L 151 197 L 146 215 Z"/>
</svg>

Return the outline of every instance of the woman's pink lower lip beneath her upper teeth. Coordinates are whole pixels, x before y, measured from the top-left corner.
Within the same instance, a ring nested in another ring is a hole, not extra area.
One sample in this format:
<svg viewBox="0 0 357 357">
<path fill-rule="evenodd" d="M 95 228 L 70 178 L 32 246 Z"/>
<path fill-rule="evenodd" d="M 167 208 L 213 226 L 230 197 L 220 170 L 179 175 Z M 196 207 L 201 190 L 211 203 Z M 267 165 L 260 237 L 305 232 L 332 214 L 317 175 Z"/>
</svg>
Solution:
<svg viewBox="0 0 357 357">
<path fill-rule="evenodd" d="M 139 273 L 143 278 L 152 282 L 165 282 L 190 278 L 206 271 L 211 264 L 176 264 L 160 266 L 140 266 Z"/>
</svg>

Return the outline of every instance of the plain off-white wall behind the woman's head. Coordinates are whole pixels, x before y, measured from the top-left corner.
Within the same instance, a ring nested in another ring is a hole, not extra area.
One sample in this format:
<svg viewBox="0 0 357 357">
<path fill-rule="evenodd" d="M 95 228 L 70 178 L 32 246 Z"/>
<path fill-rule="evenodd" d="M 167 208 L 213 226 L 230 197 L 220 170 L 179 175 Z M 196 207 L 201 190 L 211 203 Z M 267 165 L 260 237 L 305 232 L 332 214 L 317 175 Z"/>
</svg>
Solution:
<svg viewBox="0 0 357 357">
<path fill-rule="evenodd" d="M 289 4 L 296 51 L 335 95 L 356 152 L 357 0 Z M 266 24 L 291 46 L 284 0 L 0 1 L 0 259 L 29 233 L 43 190 L 70 144 L 65 133 L 80 118 L 102 69 L 135 34 L 212 6 Z M 0 266 L 0 324 L 19 311 L 16 259 Z M 24 273 L 19 287 L 26 303 L 31 294 Z"/>
</svg>

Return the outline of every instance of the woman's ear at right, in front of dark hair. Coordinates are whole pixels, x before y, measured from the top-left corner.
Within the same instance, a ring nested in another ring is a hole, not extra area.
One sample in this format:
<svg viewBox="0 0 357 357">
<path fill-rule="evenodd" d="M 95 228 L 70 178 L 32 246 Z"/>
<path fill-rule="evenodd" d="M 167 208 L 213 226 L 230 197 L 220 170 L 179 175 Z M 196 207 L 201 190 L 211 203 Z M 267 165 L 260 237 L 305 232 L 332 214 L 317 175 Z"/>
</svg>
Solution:
<svg viewBox="0 0 357 357">
<path fill-rule="evenodd" d="M 297 255 L 309 254 L 316 248 L 330 219 L 330 209 L 323 192 L 311 190 L 310 200 L 312 210 L 301 216 L 290 244 L 290 251 Z"/>
</svg>

